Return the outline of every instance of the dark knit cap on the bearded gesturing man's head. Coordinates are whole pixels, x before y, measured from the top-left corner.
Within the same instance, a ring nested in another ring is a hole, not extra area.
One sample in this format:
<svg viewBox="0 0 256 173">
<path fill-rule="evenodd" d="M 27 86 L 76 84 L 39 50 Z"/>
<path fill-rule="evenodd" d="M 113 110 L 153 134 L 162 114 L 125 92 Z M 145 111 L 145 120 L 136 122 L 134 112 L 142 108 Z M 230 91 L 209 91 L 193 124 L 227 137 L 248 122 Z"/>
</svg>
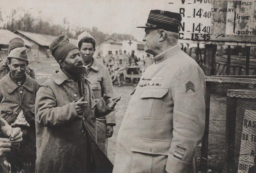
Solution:
<svg viewBox="0 0 256 173">
<path fill-rule="evenodd" d="M 77 47 L 69 42 L 67 35 L 62 34 L 52 41 L 49 48 L 52 51 L 52 56 L 59 62 L 66 57 L 72 49 Z"/>
</svg>

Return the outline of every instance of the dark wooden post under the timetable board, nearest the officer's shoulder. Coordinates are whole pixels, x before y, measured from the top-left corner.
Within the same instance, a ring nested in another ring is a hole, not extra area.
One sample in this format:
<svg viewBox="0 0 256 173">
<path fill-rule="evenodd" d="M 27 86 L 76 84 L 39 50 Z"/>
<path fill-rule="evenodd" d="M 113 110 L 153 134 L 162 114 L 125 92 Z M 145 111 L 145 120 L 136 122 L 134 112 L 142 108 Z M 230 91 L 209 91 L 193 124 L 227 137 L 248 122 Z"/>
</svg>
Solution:
<svg viewBox="0 0 256 173">
<path fill-rule="evenodd" d="M 215 53 L 217 45 L 205 45 L 206 60 L 205 60 L 205 76 L 212 76 L 215 74 Z"/>
</svg>

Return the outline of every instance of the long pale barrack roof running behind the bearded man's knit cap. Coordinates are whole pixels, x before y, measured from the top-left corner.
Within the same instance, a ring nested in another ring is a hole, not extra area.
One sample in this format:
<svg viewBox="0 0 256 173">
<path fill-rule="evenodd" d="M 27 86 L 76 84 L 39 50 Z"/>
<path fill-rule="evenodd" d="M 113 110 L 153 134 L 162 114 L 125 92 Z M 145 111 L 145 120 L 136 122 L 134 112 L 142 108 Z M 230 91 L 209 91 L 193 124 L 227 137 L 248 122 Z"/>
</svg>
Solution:
<svg viewBox="0 0 256 173">
<path fill-rule="evenodd" d="M 35 43 L 38 43 L 41 46 L 49 46 L 52 43 L 52 41 L 57 37 L 54 35 L 39 34 L 39 33 L 26 32 L 26 31 L 21 31 L 21 30 L 17 30 L 17 31 L 15 31 L 15 33 L 20 33 L 24 37 L 27 37 L 30 40 L 33 40 Z M 69 38 L 69 40 L 74 45 L 77 45 L 76 39 Z"/>
</svg>

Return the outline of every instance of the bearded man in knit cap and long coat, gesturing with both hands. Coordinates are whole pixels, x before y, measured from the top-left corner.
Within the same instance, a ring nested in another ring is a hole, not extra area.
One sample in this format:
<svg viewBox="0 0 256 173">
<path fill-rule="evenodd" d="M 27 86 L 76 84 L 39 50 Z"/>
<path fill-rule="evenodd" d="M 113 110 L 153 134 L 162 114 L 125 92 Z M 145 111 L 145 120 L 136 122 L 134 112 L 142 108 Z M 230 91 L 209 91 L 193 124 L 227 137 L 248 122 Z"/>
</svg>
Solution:
<svg viewBox="0 0 256 173">
<path fill-rule="evenodd" d="M 111 173 L 113 164 L 96 143 L 96 117 L 113 111 L 119 97 L 94 99 L 83 75 L 79 48 L 66 35 L 49 45 L 60 65 L 38 90 L 35 103 L 35 172 Z"/>
</svg>

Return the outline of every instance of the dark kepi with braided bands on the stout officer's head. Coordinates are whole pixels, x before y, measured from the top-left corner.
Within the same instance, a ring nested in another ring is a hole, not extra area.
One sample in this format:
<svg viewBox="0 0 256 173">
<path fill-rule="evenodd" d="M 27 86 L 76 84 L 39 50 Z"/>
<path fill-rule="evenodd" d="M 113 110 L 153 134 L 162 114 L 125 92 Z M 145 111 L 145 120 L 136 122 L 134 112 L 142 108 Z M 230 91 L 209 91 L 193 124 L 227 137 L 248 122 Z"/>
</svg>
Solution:
<svg viewBox="0 0 256 173">
<path fill-rule="evenodd" d="M 137 28 L 154 28 L 179 33 L 181 15 L 163 10 L 151 10 L 145 26 Z"/>
</svg>

